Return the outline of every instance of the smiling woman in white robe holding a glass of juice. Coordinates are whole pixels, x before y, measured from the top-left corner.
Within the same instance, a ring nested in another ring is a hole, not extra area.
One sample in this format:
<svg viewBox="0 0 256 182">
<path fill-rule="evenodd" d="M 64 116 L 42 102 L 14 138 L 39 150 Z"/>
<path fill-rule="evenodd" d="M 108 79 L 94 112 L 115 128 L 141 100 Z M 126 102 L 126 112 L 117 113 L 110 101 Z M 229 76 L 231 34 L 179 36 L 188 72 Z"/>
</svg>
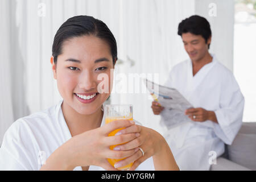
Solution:
<svg viewBox="0 0 256 182">
<path fill-rule="evenodd" d="M 125 119 L 102 126 L 102 106 L 112 89 L 116 61 L 117 44 L 104 22 L 92 16 L 64 22 L 53 40 L 51 57 L 63 101 L 11 125 L 0 148 L 0 169 L 117 170 L 107 158 L 126 158 L 119 167 L 134 162 L 131 170 L 179 169 L 166 140 L 155 130 Z M 104 86 L 110 85 L 107 92 L 98 86 L 102 74 Z M 125 129 L 119 135 L 108 137 L 121 128 Z M 125 144 L 110 150 L 120 143 Z"/>
</svg>

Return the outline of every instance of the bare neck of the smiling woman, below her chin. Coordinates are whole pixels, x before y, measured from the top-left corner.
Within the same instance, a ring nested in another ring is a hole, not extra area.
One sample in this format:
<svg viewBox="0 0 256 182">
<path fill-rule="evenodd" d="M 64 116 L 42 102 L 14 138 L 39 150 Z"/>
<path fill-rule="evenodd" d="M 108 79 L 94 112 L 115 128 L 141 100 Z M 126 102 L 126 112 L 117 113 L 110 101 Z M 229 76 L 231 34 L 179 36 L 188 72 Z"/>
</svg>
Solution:
<svg viewBox="0 0 256 182">
<path fill-rule="evenodd" d="M 76 110 L 63 101 L 61 109 L 72 137 L 101 126 L 104 114 L 101 108 L 93 114 L 85 115 L 77 113 Z"/>
</svg>

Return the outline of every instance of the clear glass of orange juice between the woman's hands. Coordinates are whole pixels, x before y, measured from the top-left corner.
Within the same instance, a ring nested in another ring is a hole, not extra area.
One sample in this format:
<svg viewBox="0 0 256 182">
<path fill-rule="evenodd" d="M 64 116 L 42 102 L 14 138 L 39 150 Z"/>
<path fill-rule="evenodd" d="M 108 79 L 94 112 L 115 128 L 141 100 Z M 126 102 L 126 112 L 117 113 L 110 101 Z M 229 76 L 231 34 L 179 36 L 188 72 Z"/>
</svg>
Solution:
<svg viewBox="0 0 256 182">
<path fill-rule="evenodd" d="M 116 120 L 121 120 L 121 119 L 127 119 L 132 121 L 133 120 L 133 105 L 129 105 L 129 104 L 111 104 L 111 105 L 105 105 L 105 124 L 108 124 L 112 121 L 116 121 Z M 125 129 L 125 127 L 121 128 L 121 129 L 117 129 L 114 130 L 112 132 L 109 133 L 109 137 L 110 136 L 114 136 L 118 131 Z M 123 144 L 123 143 L 120 143 Z M 110 150 L 113 150 L 113 148 L 115 148 L 115 146 L 110 146 Z M 125 159 L 125 158 L 123 158 Z M 114 164 L 116 162 L 118 162 L 119 160 L 123 160 L 123 159 L 108 159 L 108 162 L 114 167 Z M 133 163 L 130 163 L 126 166 L 120 167 L 118 168 L 119 170 L 128 170 L 131 166 L 133 166 Z"/>
</svg>

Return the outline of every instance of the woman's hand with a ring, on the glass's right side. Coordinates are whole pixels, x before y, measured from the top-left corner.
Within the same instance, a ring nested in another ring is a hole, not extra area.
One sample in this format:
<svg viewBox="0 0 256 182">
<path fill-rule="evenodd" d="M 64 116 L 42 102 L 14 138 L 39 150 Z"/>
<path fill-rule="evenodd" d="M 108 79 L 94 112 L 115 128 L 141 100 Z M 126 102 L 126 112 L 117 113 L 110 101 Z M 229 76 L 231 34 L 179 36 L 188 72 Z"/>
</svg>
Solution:
<svg viewBox="0 0 256 182">
<path fill-rule="evenodd" d="M 142 155 L 142 151 L 138 150 L 134 155 L 115 163 L 115 168 L 126 166 L 134 162 L 133 166 L 130 168 L 130 170 L 134 170 L 139 164 L 153 156 L 153 158 L 155 157 L 154 165 L 156 170 L 179 169 L 166 140 L 157 131 L 144 126 L 133 125 L 120 130 L 116 135 L 126 135 L 130 133 L 140 133 L 141 136 L 128 143 L 115 147 L 114 150 L 129 151 L 141 147 L 144 151 L 144 156 Z M 168 161 L 168 159 L 170 160 Z M 165 161 L 165 163 L 161 164 L 163 161 Z"/>
</svg>

